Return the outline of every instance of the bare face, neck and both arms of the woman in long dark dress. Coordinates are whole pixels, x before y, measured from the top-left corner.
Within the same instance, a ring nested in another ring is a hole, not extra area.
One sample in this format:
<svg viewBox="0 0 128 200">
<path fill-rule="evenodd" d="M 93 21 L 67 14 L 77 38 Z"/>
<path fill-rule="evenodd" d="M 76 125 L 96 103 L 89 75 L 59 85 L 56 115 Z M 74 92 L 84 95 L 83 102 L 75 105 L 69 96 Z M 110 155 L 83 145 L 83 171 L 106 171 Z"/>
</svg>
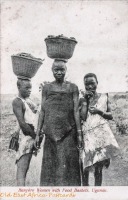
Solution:
<svg viewBox="0 0 128 200">
<path fill-rule="evenodd" d="M 62 91 L 64 83 L 64 77 L 66 74 L 66 67 L 63 65 L 58 65 L 52 69 L 53 71 L 53 76 L 55 77 L 54 81 L 54 89 L 56 91 Z M 42 103 L 41 103 L 41 112 L 39 115 L 39 121 L 38 121 L 38 128 L 37 128 L 37 136 L 35 140 L 35 146 L 39 148 L 39 134 L 40 130 L 43 127 L 44 123 L 44 103 L 46 100 L 46 93 L 44 90 L 42 90 Z M 78 138 L 78 147 L 82 147 L 82 133 L 81 133 L 81 125 L 80 125 L 80 117 L 79 117 L 79 107 L 78 107 L 78 94 L 73 93 L 73 101 L 74 101 L 74 117 L 75 117 L 75 122 L 76 122 L 76 127 L 77 127 L 77 138 Z"/>
</svg>

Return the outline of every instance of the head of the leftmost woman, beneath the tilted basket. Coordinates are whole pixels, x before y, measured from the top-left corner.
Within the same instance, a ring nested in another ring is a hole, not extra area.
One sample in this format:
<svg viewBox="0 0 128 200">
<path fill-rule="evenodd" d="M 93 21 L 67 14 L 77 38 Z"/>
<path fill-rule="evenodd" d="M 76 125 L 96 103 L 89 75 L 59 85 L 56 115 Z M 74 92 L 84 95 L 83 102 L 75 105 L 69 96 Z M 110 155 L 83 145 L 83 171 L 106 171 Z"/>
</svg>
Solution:
<svg viewBox="0 0 128 200">
<path fill-rule="evenodd" d="M 28 79 L 18 79 L 17 80 L 17 87 L 19 90 L 19 94 L 23 98 L 28 98 L 31 94 L 32 84 L 31 81 Z"/>
</svg>

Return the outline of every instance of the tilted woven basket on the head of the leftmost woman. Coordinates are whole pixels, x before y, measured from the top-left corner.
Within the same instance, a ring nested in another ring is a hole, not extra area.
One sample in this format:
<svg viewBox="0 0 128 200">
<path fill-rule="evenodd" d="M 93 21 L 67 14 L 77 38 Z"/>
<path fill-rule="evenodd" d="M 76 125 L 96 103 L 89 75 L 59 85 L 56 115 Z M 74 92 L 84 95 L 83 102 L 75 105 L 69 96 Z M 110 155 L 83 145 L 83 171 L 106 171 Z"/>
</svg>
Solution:
<svg viewBox="0 0 128 200">
<path fill-rule="evenodd" d="M 18 77 L 32 78 L 35 76 L 43 60 L 27 53 L 12 55 L 13 72 Z"/>
</svg>

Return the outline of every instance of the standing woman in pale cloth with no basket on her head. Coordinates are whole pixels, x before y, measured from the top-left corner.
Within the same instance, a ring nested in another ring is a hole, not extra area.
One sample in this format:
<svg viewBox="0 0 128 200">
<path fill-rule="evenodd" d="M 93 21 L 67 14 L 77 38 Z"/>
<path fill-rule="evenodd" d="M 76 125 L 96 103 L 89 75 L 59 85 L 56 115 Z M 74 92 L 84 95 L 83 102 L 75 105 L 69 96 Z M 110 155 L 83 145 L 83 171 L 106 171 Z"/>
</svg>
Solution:
<svg viewBox="0 0 128 200">
<path fill-rule="evenodd" d="M 80 115 L 84 138 L 83 185 L 89 185 L 89 171 L 94 168 L 95 186 L 102 184 L 102 169 L 109 167 L 110 158 L 115 156 L 119 146 L 109 127 L 112 120 L 107 94 L 97 93 L 98 80 L 95 74 L 84 76 L 86 92 L 80 99 Z"/>
</svg>

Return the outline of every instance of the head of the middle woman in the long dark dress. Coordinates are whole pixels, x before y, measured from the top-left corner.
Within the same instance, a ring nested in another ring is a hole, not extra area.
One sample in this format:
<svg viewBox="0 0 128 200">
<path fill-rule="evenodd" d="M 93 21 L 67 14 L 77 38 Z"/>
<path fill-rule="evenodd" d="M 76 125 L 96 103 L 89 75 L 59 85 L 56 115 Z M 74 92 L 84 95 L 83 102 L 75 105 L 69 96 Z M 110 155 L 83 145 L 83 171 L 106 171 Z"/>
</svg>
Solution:
<svg viewBox="0 0 128 200">
<path fill-rule="evenodd" d="M 57 81 L 63 81 L 67 71 L 66 63 L 62 60 L 55 60 L 52 65 L 52 72 Z"/>
</svg>

